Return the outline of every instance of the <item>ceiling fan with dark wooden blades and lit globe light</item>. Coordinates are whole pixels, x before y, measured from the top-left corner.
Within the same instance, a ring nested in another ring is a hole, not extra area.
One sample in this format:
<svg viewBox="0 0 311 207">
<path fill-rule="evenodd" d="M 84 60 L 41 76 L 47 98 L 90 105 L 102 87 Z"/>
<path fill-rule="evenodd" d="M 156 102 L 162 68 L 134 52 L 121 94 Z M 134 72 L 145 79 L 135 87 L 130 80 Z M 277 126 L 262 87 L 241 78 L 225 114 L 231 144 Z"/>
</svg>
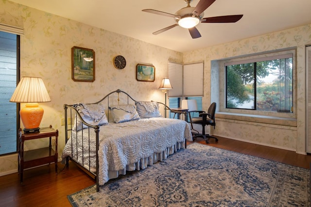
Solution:
<svg viewBox="0 0 311 207">
<path fill-rule="evenodd" d="M 192 0 L 184 0 L 188 5 L 178 10 L 174 15 L 166 12 L 157 11 L 154 9 L 144 9 L 143 12 L 149 12 L 156 15 L 173 17 L 176 20 L 176 24 L 169 27 L 163 28 L 153 34 L 159 34 L 170 30 L 176 26 L 187 28 L 190 32 L 192 39 L 201 37 L 200 32 L 195 28 L 200 22 L 202 23 L 231 23 L 239 21 L 243 15 L 228 15 L 228 16 L 213 16 L 203 18 L 204 11 L 212 4 L 215 0 L 200 0 L 196 7 L 190 7 Z"/>
</svg>

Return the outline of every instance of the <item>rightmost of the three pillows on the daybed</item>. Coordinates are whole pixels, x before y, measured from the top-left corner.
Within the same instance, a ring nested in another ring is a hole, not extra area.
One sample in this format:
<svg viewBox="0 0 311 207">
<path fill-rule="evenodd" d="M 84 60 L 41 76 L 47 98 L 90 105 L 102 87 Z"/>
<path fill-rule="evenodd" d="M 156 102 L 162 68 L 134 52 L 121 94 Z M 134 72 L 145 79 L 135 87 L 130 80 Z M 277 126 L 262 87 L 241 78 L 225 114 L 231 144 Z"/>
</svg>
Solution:
<svg viewBox="0 0 311 207">
<path fill-rule="evenodd" d="M 136 101 L 137 112 L 140 118 L 161 117 L 159 104 L 154 101 Z"/>
</svg>

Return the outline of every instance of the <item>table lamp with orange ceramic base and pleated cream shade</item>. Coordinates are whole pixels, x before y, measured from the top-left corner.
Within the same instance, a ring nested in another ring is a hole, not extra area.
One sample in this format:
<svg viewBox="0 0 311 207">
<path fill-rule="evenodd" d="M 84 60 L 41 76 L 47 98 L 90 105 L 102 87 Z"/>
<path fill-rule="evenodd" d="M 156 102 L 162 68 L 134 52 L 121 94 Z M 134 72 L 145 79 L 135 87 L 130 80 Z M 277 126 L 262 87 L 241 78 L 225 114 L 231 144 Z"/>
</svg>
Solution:
<svg viewBox="0 0 311 207">
<path fill-rule="evenodd" d="M 19 81 L 10 102 L 26 103 L 26 107 L 19 111 L 24 125 L 24 132 L 39 131 L 43 117 L 43 109 L 38 102 L 51 101 L 47 89 L 41 78 L 23 77 Z"/>
</svg>

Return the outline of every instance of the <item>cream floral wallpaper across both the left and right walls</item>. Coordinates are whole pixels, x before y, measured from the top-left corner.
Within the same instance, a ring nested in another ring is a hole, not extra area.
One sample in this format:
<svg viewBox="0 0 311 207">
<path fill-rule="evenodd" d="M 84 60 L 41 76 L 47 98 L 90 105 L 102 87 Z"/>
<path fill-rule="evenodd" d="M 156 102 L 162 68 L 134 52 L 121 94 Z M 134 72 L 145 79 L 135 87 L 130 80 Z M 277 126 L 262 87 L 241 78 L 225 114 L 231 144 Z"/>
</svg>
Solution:
<svg viewBox="0 0 311 207">
<path fill-rule="evenodd" d="M 65 130 L 64 126 L 61 126 L 65 103 L 95 102 L 116 89 L 128 92 L 137 100 L 164 102 L 164 95 L 158 87 L 161 79 L 168 76 L 168 61 L 177 63 L 204 61 L 206 79 L 204 105 L 211 100 L 219 100 L 219 95 L 211 93 L 219 91 L 215 88 L 217 86 L 210 83 L 212 78 L 218 78 L 211 70 L 212 61 L 289 47 L 297 47 L 296 127 L 272 126 L 256 121 L 245 122 L 218 116 L 213 134 L 294 150 L 302 154 L 306 152 L 305 45 L 311 44 L 311 25 L 180 53 L 9 0 L 0 1 L 0 23 L 24 29 L 24 35 L 21 36 L 21 77 L 41 77 L 47 87 L 52 101 L 40 104 L 45 111 L 41 126 L 52 125 L 59 130 L 59 154 L 65 145 Z M 73 46 L 95 51 L 94 82 L 71 80 Z M 116 55 L 124 56 L 127 61 L 126 67 L 122 70 L 113 66 L 112 60 Z M 136 80 L 138 63 L 155 66 L 154 82 Z M 25 150 L 39 148 L 46 143 L 47 140 L 44 139 L 29 141 L 25 143 Z M 0 157 L 0 175 L 15 172 L 17 172 L 17 155 Z"/>
</svg>

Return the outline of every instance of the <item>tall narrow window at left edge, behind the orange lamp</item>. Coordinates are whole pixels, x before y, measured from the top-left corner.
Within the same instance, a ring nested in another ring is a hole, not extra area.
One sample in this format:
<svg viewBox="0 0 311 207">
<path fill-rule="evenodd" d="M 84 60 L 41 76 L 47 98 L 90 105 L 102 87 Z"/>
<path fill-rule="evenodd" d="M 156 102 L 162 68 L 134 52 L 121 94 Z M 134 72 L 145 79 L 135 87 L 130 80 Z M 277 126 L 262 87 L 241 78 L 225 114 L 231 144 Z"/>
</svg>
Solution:
<svg viewBox="0 0 311 207">
<path fill-rule="evenodd" d="M 9 100 L 18 78 L 19 35 L 0 31 L 0 155 L 17 152 L 19 104 Z"/>
</svg>

